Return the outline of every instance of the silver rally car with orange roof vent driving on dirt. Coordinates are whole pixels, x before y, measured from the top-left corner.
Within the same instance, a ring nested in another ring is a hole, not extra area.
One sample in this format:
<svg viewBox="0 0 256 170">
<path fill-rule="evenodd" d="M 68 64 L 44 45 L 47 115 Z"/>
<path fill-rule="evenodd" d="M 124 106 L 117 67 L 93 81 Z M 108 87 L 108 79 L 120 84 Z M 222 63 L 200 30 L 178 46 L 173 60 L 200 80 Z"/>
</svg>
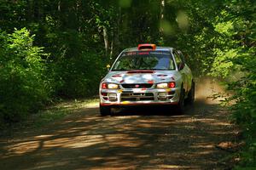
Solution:
<svg viewBox="0 0 256 170">
<path fill-rule="evenodd" d="M 119 54 L 99 92 L 102 116 L 125 105 L 177 105 L 182 112 L 195 100 L 195 82 L 180 51 L 140 44 Z"/>
</svg>

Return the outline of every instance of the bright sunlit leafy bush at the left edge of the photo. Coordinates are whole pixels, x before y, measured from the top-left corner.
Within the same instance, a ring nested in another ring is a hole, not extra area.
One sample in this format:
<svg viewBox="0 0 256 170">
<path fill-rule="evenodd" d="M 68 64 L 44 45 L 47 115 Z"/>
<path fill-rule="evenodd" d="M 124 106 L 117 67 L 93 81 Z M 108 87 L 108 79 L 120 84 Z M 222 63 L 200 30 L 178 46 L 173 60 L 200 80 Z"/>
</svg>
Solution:
<svg viewBox="0 0 256 170">
<path fill-rule="evenodd" d="M 0 119 L 16 122 L 49 99 L 41 59 L 46 54 L 33 46 L 33 36 L 25 28 L 12 34 L 2 32 L 0 39 Z"/>
</svg>

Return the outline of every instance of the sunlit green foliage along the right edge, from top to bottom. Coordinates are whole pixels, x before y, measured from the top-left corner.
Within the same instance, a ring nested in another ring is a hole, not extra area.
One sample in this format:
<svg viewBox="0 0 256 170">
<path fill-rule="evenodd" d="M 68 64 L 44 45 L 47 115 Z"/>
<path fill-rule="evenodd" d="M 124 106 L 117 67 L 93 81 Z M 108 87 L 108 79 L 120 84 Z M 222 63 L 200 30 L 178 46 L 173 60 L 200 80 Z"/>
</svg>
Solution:
<svg viewBox="0 0 256 170">
<path fill-rule="evenodd" d="M 218 45 L 214 48 L 211 74 L 225 78 L 233 105 L 233 120 L 243 129 L 247 146 L 235 169 L 256 167 L 256 4 L 253 1 L 226 2 L 221 16 L 213 22 Z M 237 74 L 239 73 L 239 74 Z"/>
</svg>

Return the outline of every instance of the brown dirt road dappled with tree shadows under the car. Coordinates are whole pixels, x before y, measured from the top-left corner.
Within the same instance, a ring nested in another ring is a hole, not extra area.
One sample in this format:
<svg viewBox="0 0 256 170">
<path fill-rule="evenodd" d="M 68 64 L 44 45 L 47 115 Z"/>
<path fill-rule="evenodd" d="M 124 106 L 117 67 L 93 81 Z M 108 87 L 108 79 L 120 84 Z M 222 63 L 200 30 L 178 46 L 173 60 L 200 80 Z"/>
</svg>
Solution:
<svg viewBox="0 0 256 170">
<path fill-rule="evenodd" d="M 140 108 L 102 117 L 91 107 L 1 138 L 0 169 L 224 169 L 218 161 L 230 153 L 215 146 L 236 128 L 207 99 L 211 90 L 198 91 L 184 115 Z"/>
</svg>

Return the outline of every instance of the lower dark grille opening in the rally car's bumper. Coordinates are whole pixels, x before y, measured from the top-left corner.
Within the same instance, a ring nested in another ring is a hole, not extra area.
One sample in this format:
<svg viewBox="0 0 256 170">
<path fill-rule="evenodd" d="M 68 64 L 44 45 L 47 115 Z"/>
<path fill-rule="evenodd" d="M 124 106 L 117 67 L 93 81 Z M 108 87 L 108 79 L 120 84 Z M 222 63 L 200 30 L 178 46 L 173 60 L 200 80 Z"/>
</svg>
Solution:
<svg viewBox="0 0 256 170">
<path fill-rule="evenodd" d="M 154 94 L 152 93 L 123 93 L 121 101 L 152 101 Z"/>
</svg>

